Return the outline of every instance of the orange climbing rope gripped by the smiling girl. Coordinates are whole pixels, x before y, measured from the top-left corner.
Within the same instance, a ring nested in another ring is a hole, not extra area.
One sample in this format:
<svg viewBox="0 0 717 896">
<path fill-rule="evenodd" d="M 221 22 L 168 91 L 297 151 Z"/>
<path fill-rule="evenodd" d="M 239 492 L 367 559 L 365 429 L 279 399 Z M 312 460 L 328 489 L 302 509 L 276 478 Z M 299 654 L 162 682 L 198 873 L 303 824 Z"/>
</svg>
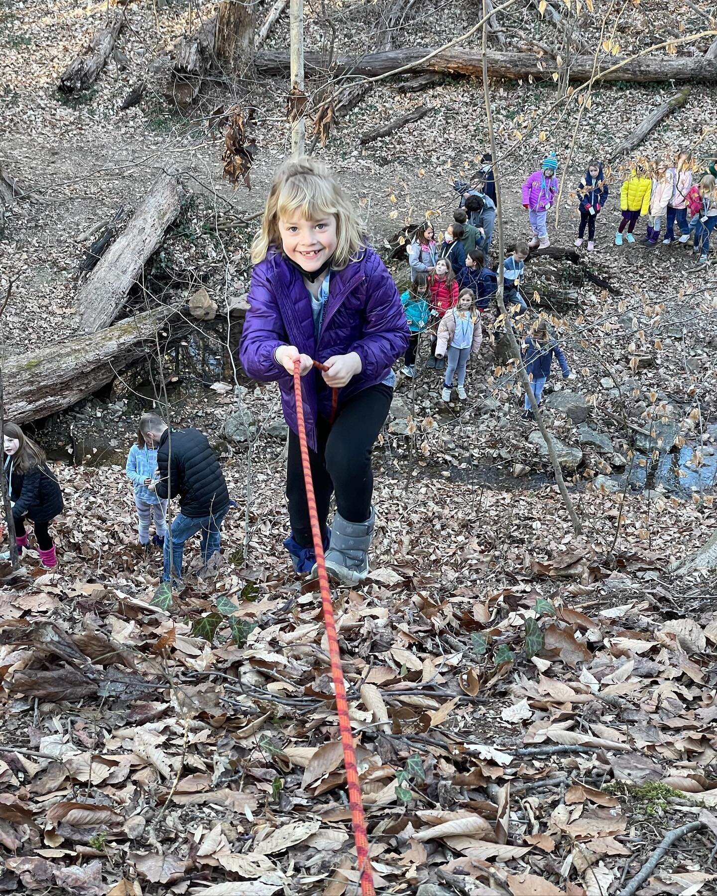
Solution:
<svg viewBox="0 0 717 896">
<path fill-rule="evenodd" d="M 361 896 L 375 896 L 374 874 L 368 859 L 366 816 L 364 815 L 364 806 L 361 801 L 361 785 L 358 783 L 356 750 L 354 749 L 353 735 L 351 734 L 349 703 L 346 700 L 346 688 L 343 685 L 343 669 L 341 668 L 339 638 L 336 633 L 336 623 L 333 618 L 331 587 L 329 585 L 329 576 L 326 573 L 324 544 L 321 538 L 319 514 L 316 510 L 316 498 L 314 495 L 314 483 L 311 480 L 311 466 L 308 459 L 307 430 L 304 426 L 304 403 L 301 395 L 301 376 L 298 373 L 300 364 L 301 362 L 297 358 L 297 360 L 294 361 L 294 394 L 297 401 L 298 444 L 301 449 L 301 463 L 304 468 L 304 483 L 307 488 L 308 515 L 311 520 L 311 535 L 312 538 L 314 538 L 314 553 L 316 555 L 316 570 L 318 572 L 319 590 L 321 591 L 321 603 L 324 609 L 324 624 L 326 625 L 326 636 L 329 641 L 331 676 L 333 678 L 333 690 L 336 694 L 336 712 L 339 716 L 341 746 L 343 747 L 343 764 L 346 766 L 346 787 L 349 791 L 351 826 L 353 827 L 353 839 L 356 843 L 358 871 L 361 875 Z M 314 362 L 314 366 L 319 370 L 328 369 L 318 361 Z M 338 390 L 334 389 L 332 421 L 336 413 L 337 399 Z"/>
</svg>

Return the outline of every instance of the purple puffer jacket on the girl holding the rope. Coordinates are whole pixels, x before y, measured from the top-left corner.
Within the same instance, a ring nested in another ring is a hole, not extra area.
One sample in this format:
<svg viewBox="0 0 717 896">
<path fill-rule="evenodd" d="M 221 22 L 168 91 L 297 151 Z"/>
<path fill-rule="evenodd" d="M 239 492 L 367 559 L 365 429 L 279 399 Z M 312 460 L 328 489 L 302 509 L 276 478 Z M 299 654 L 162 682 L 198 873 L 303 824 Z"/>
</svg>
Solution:
<svg viewBox="0 0 717 896">
<path fill-rule="evenodd" d="M 358 354 L 361 373 L 340 390 L 340 408 L 351 395 L 382 383 L 393 362 L 408 348 L 409 327 L 398 290 L 370 246 L 358 261 L 332 271 L 318 345 L 306 284 L 276 250 L 255 265 L 248 302 L 239 360 L 255 380 L 279 383 L 284 418 L 294 432 L 298 432 L 298 424 L 293 377 L 274 359 L 280 345 L 295 345 L 319 361 L 351 351 Z M 331 416 L 332 390 L 317 371 L 301 382 L 308 442 L 315 449 L 316 418 Z"/>
</svg>

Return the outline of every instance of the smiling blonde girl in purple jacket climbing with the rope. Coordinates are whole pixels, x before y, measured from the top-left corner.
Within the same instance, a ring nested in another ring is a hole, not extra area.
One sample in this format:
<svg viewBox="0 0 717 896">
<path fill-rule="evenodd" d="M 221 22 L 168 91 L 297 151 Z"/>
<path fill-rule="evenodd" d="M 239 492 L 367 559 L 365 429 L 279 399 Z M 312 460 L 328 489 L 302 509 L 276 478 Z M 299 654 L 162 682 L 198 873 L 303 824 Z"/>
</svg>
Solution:
<svg viewBox="0 0 717 896">
<path fill-rule="evenodd" d="M 281 390 L 291 523 L 284 546 L 296 572 L 315 571 L 294 398 L 298 358 L 326 566 L 333 578 L 356 584 L 368 572 L 376 523 L 371 450 L 391 406 L 393 363 L 408 348 L 406 315 L 357 212 L 316 159 L 293 159 L 276 172 L 252 261 L 239 358 L 248 375 L 276 381 Z M 329 369 L 319 373 L 314 359 Z M 336 513 L 329 530 L 332 493 Z"/>
</svg>

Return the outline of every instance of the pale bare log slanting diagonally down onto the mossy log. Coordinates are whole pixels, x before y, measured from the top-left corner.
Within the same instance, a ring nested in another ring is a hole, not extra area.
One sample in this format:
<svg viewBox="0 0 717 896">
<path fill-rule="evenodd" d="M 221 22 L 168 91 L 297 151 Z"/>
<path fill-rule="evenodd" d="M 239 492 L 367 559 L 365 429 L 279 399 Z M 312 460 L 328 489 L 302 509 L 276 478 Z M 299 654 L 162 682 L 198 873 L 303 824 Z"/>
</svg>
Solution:
<svg viewBox="0 0 717 896">
<path fill-rule="evenodd" d="M 155 181 L 124 233 L 103 254 L 77 294 L 82 330 L 97 332 L 117 317 L 144 263 L 177 217 L 181 201 L 177 177 L 164 174 Z"/>
</svg>

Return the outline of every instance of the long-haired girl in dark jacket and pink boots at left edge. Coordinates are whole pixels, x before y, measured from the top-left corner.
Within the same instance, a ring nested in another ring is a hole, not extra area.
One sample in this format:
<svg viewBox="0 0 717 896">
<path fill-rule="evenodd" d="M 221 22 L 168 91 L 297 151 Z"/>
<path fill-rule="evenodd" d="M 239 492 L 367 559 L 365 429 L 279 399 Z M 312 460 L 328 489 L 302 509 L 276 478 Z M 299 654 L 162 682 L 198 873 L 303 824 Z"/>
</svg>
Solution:
<svg viewBox="0 0 717 896">
<path fill-rule="evenodd" d="M 29 518 L 35 526 L 40 562 L 46 569 L 54 569 L 57 565 L 55 544 L 48 529 L 49 524 L 65 509 L 56 475 L 48 467 L 45 452 L 23 434 L 20 426 L 6 423 L 3 436 L 4 472 L 13 503 L 18 553 L 22 554 L 22 550 L 28 547 L 25 518 Z"/>
</svg>

